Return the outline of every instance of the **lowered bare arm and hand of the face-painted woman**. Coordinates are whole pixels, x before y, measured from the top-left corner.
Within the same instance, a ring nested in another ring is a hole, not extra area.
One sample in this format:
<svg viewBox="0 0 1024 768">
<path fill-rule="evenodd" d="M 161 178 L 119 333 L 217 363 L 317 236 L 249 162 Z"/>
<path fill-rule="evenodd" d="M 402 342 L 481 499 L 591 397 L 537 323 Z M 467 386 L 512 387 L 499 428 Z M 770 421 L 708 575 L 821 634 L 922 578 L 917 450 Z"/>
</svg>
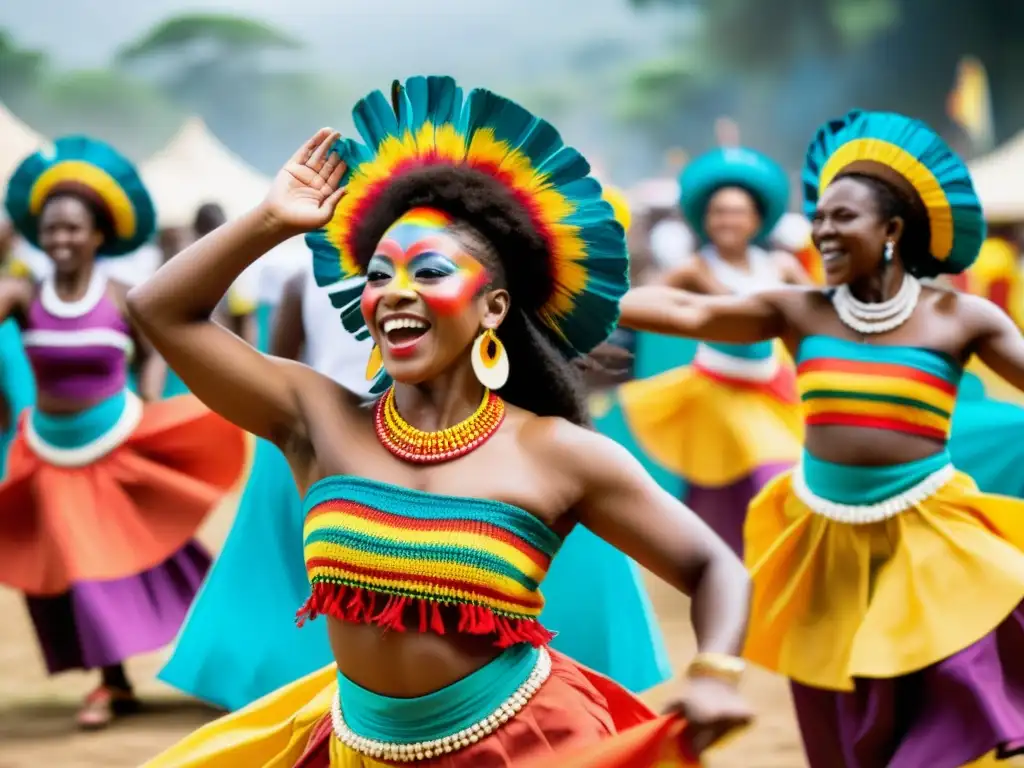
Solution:
<svg viewBox="0 0 1024 768">
<path fill-rule="evenodd" d="M 746 634 L 750 578 L 732 550 L 626 449 L 577 427 L 560 431 L 556 443 L 572 457 L 580 482 L 580 521 L 690 597 L 700 652 L 737 655 Z M 753 717 L 730 683 L 701 677 L 691 678 L 669 709 L 687 719 L 698 753 Z"/>
</svg>

